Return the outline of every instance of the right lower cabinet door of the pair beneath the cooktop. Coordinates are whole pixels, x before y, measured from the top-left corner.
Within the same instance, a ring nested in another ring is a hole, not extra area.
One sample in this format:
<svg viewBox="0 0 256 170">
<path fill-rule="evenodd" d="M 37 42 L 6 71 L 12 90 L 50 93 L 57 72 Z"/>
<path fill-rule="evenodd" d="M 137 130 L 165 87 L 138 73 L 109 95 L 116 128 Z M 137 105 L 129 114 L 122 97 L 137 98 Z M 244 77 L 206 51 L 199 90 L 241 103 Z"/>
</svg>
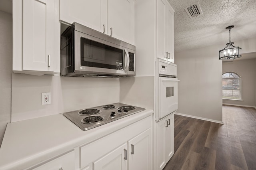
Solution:
<svg viewBox="0 0 256 170">
<path fill-rule="evenodd" d="M 151 170 L 151 128 L 128 141 L 129 170 Z"/>
</svg>

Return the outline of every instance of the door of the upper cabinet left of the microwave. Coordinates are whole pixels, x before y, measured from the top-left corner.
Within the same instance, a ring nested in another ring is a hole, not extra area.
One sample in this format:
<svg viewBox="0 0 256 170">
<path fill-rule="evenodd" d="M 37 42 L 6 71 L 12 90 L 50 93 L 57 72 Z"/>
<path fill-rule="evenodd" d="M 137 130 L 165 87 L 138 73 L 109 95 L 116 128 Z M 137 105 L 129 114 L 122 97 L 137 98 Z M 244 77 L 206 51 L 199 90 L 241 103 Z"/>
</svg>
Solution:
<svg viewBox="0 0 256 170">
<path fill-rule="evenodd" d="M 54 71 L 54 1 L 23 1 L 22 69 Z"/>
</svg>

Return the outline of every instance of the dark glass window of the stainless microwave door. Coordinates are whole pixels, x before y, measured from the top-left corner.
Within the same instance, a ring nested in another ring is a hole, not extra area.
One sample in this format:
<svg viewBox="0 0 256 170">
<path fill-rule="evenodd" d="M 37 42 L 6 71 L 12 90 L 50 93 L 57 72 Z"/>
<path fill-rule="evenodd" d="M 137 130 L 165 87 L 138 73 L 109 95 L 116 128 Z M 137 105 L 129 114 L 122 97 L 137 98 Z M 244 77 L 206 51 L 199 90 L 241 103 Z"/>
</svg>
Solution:
<svg viewBox="0 0 256 170">
<path fill-rule="evenodd" d="M 123 69 L 123 50 L 81 38 L 81 65 Z"/>
</svg>

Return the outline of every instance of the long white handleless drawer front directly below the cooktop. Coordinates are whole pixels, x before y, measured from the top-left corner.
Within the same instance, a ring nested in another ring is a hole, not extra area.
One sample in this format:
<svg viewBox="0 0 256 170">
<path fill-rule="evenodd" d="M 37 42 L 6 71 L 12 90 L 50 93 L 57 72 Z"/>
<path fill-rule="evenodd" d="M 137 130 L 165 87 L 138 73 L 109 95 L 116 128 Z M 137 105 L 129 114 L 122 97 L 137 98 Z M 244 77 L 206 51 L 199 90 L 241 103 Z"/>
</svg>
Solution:
<svg viewBox="0 0 256 170">
<path fill-rule="evenodd" d="M 116 147 L 121 146 L 127 140 L 144 132 L 151 127 L 151 121 L 151 116 L 146 117 L 94 142 L 80 146 L 80 168 L 84 168 L 89 163 L 99 159 Z"/>
</svg>

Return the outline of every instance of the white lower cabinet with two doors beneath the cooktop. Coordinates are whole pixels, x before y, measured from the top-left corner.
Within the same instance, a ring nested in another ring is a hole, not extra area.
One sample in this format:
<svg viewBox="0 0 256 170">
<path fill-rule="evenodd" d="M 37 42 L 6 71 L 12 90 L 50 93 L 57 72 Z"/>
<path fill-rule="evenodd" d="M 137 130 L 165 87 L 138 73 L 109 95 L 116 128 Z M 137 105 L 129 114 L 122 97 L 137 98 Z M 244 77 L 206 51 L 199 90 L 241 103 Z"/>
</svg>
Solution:
<svg viewBox="0 0 256 170">
<path fill-rule="evenodd" d="M 151 170 L 152 117 L 80 146 L 82 170 Z"/>
</svg>

